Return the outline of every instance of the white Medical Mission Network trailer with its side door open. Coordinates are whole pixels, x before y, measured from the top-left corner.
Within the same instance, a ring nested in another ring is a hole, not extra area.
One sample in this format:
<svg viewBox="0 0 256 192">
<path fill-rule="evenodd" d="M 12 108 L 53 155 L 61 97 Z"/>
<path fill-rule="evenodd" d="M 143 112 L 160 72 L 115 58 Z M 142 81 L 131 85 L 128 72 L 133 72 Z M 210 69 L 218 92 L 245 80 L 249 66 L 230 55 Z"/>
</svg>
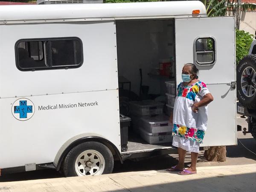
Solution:
<svg viewBox="0 0 256 192">
<path fill-rule="evenodd" d="M 161 93 L 166 79 L 148 73 L 170 57 L 176 85 L 194 63 L 214 96 L 201 146 L 236 145 L 234 23 L 200 1 L 0 6 L 2 174 L 99 175 L 114 160 L 173 153 L 136 140 L 122 152 L 119 121 L 118 76 L 138 94 L 142 68 Z"/>
</svg>

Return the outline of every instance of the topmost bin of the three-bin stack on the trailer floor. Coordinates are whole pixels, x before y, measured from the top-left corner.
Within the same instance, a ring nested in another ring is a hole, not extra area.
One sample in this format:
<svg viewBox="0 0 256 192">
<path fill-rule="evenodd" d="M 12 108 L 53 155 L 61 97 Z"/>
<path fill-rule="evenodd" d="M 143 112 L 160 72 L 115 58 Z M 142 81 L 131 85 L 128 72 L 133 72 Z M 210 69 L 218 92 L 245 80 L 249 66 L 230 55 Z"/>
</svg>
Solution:
<svg viewBox="0 0 256 192">
<path fill-rule="evenodd" d="M 130 113 L 139 116 L 159 115 L 163 113 L 163 103 L 154 100 L 129 102 Z"/>
</svg>

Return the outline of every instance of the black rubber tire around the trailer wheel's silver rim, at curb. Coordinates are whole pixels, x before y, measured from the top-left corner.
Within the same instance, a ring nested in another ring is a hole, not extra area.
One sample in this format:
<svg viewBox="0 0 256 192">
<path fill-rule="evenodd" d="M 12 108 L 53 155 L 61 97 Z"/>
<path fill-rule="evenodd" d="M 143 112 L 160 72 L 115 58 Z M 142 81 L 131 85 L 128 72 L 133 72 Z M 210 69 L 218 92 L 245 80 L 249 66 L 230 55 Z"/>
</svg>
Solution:
<svg viewBox="0 0 256 192">
<path fill-rule="evenodd" d="M 102 174 L 112 173 L 114 160 L 113 160 L 113 154 L 111 153 L 109 148 L 106 145 L 103 145 L 102 143 L 86 142 L 86 143 L 81 143 L 76 147 L 74 147 L 73 149 L 71 149 L 70 152 L 65 157 L 63 170 L 64 170 L 64 175 L 66 177 L 79 176 L 76 173 L 76 169 L 75 169 L 76 159 L 79 156 L 79 154 L 87 150 L 97 151 L 103 156 L 105 160 L 105 167 Z"/>
</svg>

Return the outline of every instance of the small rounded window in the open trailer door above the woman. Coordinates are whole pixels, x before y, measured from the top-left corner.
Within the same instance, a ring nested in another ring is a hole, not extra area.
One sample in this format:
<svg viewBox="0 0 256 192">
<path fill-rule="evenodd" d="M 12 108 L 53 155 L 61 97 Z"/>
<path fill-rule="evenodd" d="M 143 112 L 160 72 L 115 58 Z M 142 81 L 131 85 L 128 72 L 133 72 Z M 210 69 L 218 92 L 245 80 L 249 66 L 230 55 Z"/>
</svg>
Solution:
<svg viewBox="0 0 256 192">
<path fill-rule="evenodd" d="M 213 38 L 198 38 L 195 43 L 196 62 L 200 65 L 215 62 L 215 41 Z"/>
</svg>

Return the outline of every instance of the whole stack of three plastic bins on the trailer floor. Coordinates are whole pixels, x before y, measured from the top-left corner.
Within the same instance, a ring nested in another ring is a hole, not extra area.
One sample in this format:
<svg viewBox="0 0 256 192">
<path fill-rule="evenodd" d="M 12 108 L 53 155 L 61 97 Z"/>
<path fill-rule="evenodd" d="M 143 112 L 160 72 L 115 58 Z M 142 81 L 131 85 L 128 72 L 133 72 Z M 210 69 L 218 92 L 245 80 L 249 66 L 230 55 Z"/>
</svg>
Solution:
<svg viewBox="0 0 256 192">
<path fill-rule="evenodd" d="M 169 116 L 163 114 L 163 103 L 153 100 L 130 102 L 134 131 L 149 144 L 172 141 L 172 124 Z"/>
</svg>

